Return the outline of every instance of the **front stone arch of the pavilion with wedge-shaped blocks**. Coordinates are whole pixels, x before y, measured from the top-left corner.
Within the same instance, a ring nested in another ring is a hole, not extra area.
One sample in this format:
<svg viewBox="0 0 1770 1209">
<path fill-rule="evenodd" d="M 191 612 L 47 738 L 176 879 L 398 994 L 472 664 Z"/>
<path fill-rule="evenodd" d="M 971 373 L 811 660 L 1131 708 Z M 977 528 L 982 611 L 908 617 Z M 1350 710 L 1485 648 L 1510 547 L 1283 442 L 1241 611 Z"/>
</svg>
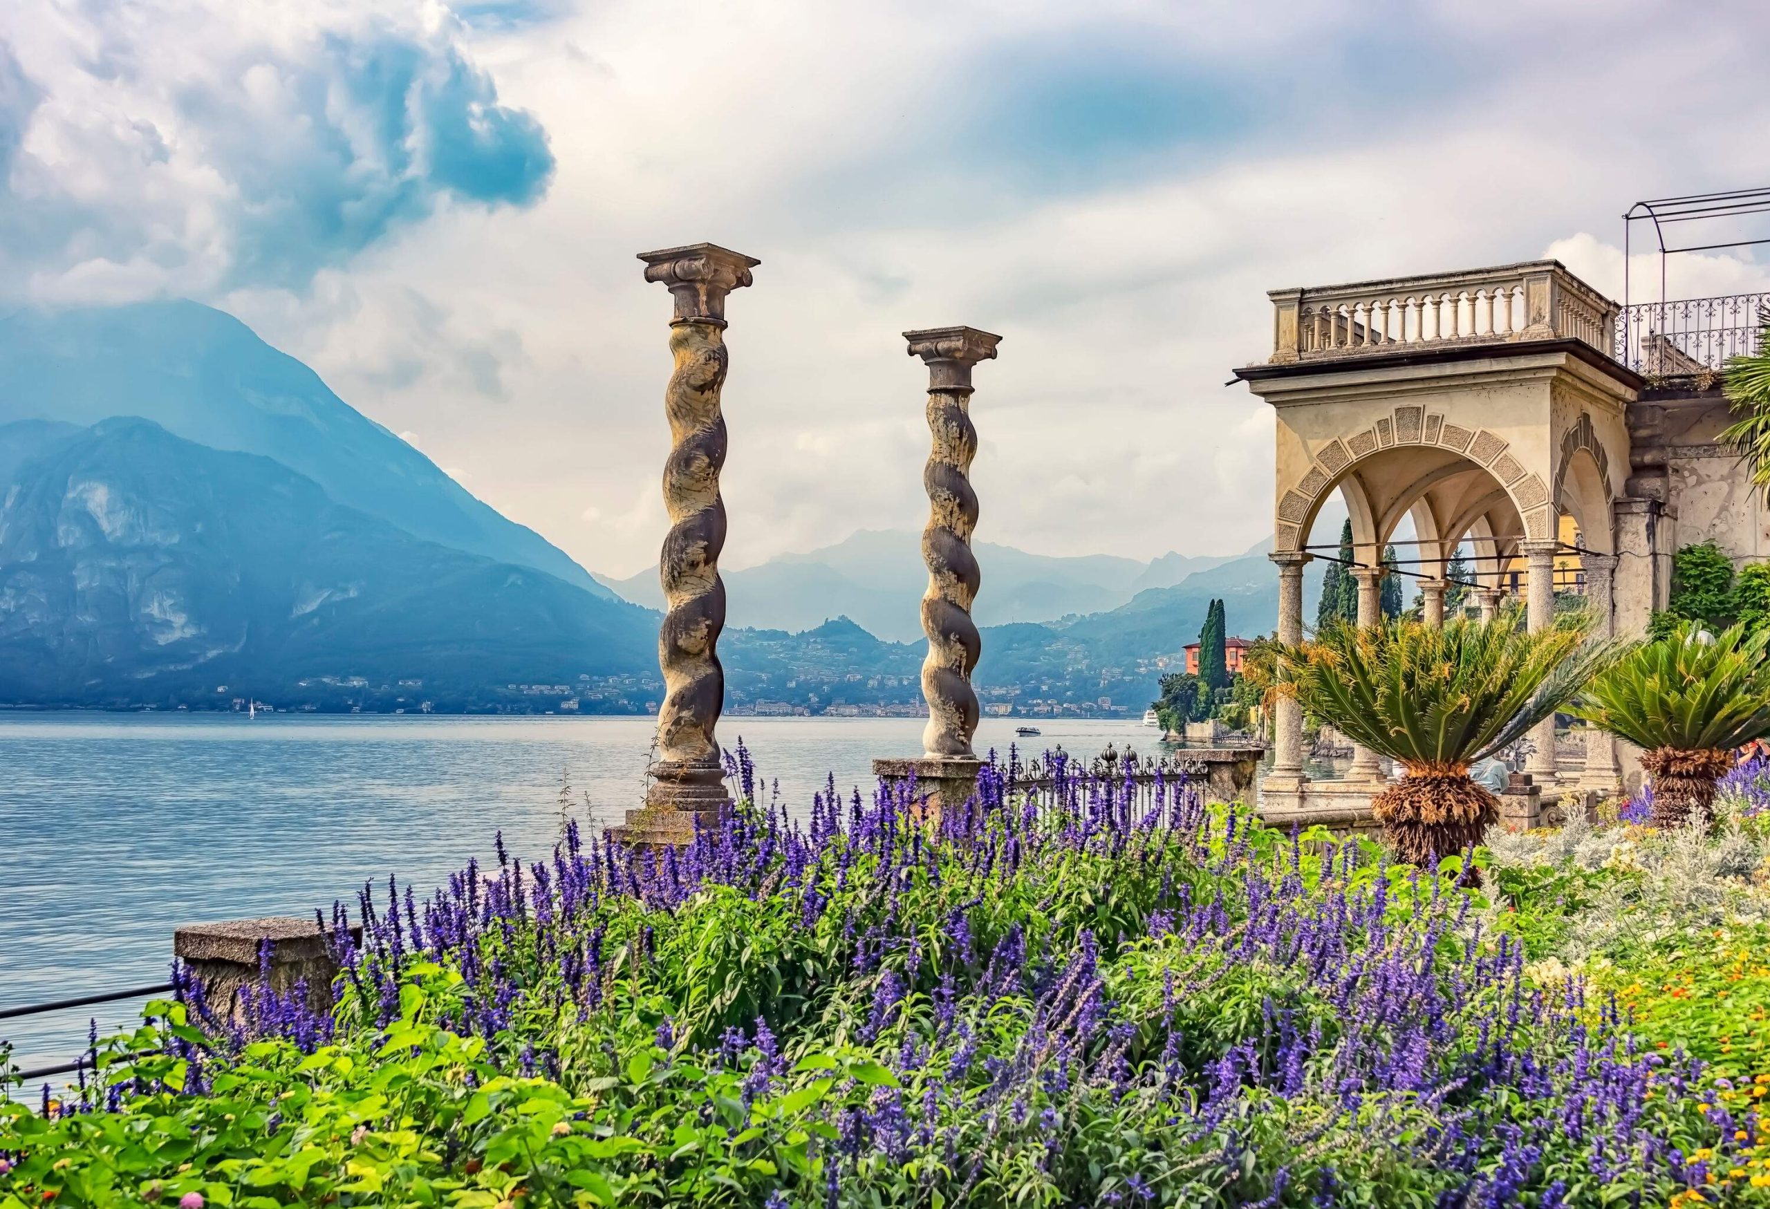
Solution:
<svg viewBox="0 0 1770 1209">
<path fill-rule="evenodd" d="M 1588 423 L 1589 428 L 1589 423 Z M 1370 522 L 1368 542 L 1381 543 L 1393 531 L 1400 517 L 1432 489 L 1435 481 L 1462 474 L 1467 464 L 1474 464 L 1485 473 L 1503 494 L 1504 501 L 1520 519 L 1522 536 L 1554 536 L 1552 503 L 1549 489 L 1542 478 L 1526 473 L 1524 466 L 1512 453 L 1510 444 L 1487 428 L 1466 428 L 1444 420 L 1441 412 L 1428 411 L 1420 404 L 1397 405 L 1388 416 L 1377 418 L 1370 427 L 1328 441 L 1310 462 L 1308 471 L 1297 483 L 1278 499 L 1274 524 L 1274 549 L 1297 551 L 1308 540 L 1310 526 L 1320 512 L 1328 492 L 1340 487 L 1366 460 L 1379 458 L 1391 450 L 1404 446 L 1428 448 L 1439 455 L 1420 478 L 1420 483 L 1404 487 L 1393 501 L 1366 501 Z M 1455 466 L 1450 471 L 1446 467 Z M 1434 478 L 1435 476 L 1435 478 Z M 1430 481 L 1427 481 L 1430 480 Z M 1356 481 L 1356 480 L 1354 480 Z M 1418 487 L 1418 490 L 1414 490 Z M 1347 501 L 1351 506 L 1351 499 Z M 1483 508 L 1474 515 L 1487 515 Z M 1434 527 L 1443 540 L 1457 542 L 1462 533 L 1455 531 L 1455 517 L 1437 517 Z M 1473 517 L 1471 517 L 1473 520 Z M 1354 522 L 1354 529 L 1358 524 Z M 1361 535 L 1354 533 L 1354 538 Z"/>
</svg>

